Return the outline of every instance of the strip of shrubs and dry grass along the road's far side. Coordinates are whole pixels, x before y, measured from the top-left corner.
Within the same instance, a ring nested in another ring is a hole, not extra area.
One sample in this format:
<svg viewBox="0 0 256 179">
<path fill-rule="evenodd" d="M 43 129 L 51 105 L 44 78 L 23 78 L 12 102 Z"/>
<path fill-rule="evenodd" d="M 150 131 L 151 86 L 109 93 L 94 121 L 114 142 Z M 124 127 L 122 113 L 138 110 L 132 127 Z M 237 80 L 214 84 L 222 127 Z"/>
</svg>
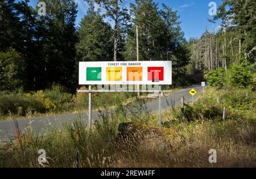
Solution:
<svg viewBox="0 0 256 179">
<path fill-rule="evenodd" d="M 92 86 L 96 90 L 97 86 Z M 163 86 L 163 90 L 170 90 L 170 87 Z M 171 88 L 172 92 L 178 88 Z M 88 87 L 81 86 L 79 90 L 88 90 Z M 165 94 L 165 95 L 168 95 Z M 52 85 L 46 90 L 26 92 L 18 91 L 0 92 L 0 120 L 14 120 L 17 118 L 31 118 L 47 115 L 82 113 L 88 110 L 88 93 L 68 92 L 59 84 Z M 136 105 L 146 101 L 154 100 L 148 98 L 148 93 L 116 92 L 116 93 L 92 93 L 92 109 L 103 110 L 115 108 L 116 99 L 122 105 Z M 104 103 L 102 103 L 104 101 Z"/>
</svg>

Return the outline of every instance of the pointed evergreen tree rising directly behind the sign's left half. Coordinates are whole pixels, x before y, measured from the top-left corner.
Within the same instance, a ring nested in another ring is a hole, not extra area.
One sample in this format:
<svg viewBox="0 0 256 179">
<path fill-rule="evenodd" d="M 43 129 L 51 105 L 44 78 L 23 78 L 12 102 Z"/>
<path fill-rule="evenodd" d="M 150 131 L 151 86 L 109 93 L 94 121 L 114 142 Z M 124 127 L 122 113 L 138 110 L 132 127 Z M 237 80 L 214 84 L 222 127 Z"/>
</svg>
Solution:
<svg viewBox="0 0 256 179">
<path fill-rule="evenodd" d="M 113 31 L 105 23 L 100 11 L 94 11 L 93 3 L 82 18 L 76 44 L 77 58 L 81 61 L 111 61 L 113 59 Z"/>
</svg>

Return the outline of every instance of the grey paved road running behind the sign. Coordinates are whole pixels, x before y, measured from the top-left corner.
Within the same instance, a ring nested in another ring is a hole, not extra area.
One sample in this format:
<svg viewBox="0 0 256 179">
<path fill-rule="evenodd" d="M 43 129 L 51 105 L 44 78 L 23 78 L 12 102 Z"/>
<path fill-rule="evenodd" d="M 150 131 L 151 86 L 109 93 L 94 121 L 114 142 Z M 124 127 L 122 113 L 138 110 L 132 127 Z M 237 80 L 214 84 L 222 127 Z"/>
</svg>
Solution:
<svg viewBox="0 0 256 179">
<path fill-rule="evenodd" d="M 188 93 L 191 88 L 194 88 L 197 93 L 194 96 L 194 99 L 197 98 L 200 91 L 202 90 L 202 87 L 199 85 L 183 88 L 182 90 L 179 90 L 172 95 L 169 95 L 167 97 L 162 98 L 162 109 L 170 109 L 171 105 L 179 105 L 180 103 L 180 96 L 183 95 L 185 102 L 192 101 L 192 96 Z M 146 103 L 146 109 L 149 112 L 158 112 L 158 98 L 154 101 L 150 101 Z M 135 106 L 136 107 L 136 106 Z M 98 111 L 92 112 L 92 121 L 97 120 L 98 118 Z M 80 116 L 79 116 L 80 115 Z M 45 131 L 50 126 L 57 126 L 60 127 L 62 122 L 72 122 L 75 118 L 80 117 L 84 120 L 88 120 L 87 114 L 63 114 L 59 116 L 47 116 L 47 117 L 35 117 L 35 118 L 29 118 L 29 119 L 19 119 L 16 120 L 18 123 L 18 127 L 20 131 L 26 130 L 27 126 L 31 126 L 32 130 L 34 131 Z M 9 137 L 14 137 L 15 135 L 15 121 L 9 120 L 9 121 L 0 121 L 0 144 L 5 141 L 9 140 Z"/>
</svg>

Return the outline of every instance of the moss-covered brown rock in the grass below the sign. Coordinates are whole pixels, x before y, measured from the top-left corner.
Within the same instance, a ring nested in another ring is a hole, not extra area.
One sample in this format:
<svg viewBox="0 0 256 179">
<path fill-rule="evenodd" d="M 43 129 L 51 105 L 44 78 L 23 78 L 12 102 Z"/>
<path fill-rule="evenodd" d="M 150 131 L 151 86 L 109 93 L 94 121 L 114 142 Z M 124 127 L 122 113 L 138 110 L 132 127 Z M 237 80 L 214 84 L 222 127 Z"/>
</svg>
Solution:
<svg viewBox="0 0 256 179">
<path fill-rule="evenodd" d="M 120 123 L 118 142 L 133 144 L 135 147 L 166 149 L 174 147 L 179 136 L 172 129 L 147 126 L 138 122 Z"/>
</svg>

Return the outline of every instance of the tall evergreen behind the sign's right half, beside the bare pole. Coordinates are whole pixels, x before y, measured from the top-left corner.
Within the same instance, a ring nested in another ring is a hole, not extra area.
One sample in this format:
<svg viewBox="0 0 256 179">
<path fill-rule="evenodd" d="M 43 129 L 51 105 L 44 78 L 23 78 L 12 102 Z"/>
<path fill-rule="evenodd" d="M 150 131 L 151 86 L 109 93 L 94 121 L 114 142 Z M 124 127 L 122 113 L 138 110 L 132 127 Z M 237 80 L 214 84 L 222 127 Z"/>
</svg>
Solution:
<svg viewBox="0 0 256 179">
<path fill-rule="evenodd" d="M 166 27 L 160 17 L 158 4 L 152 0 L 136 0 L 131 3 L 131 27 L 124 56 L 136 59 L 136 26 L 139 31 L 139 60 L 160 60 L 163 51 Z"/>
</svg>

